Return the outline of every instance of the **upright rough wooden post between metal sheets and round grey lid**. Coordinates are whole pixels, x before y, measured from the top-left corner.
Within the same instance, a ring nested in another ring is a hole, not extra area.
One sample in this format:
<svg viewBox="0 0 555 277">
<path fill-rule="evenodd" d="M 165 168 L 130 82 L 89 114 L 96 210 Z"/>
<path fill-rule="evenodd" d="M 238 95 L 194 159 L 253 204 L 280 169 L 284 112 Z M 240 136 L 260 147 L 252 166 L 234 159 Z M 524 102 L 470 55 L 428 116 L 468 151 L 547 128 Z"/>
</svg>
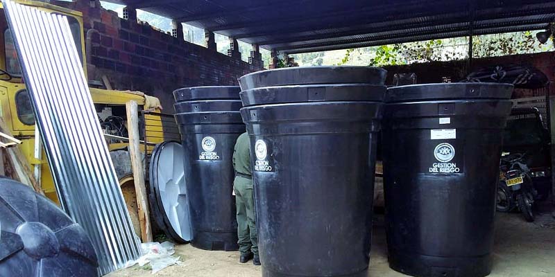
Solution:
<svg viewBox="0 0 555 277">
<path fill-rule="evenodd" d="M 151 219 L 148 215 L 149 210 L 146 197 L 146 186 L 144 184 L 142 154 L 139 150 L 139 107 L 137 107 L 137 102 L 130 100 L 126 103 L 126 109 L 127 130 L 129 133 L 129 154 L 131 156 L 131 166 L 133 167 L 135 194 L 137 195 L 139 223 L 141 224 L 141 239 L 143 242 L 152 242 Z"/>
</svg>

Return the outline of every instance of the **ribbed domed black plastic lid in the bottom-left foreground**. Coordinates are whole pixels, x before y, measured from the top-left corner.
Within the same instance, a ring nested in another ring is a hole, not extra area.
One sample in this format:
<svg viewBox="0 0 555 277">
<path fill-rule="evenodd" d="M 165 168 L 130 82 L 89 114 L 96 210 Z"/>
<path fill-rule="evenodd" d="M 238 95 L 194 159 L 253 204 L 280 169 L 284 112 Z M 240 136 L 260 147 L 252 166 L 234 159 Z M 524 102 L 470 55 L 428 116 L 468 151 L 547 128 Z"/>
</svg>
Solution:
<svg viewBox="0 0 555 277">
<path fill-rule="evenodd" d="M 31 188 L 0 178 L 0 276 L 96 277 L 87 233 Z"/>
</svg>

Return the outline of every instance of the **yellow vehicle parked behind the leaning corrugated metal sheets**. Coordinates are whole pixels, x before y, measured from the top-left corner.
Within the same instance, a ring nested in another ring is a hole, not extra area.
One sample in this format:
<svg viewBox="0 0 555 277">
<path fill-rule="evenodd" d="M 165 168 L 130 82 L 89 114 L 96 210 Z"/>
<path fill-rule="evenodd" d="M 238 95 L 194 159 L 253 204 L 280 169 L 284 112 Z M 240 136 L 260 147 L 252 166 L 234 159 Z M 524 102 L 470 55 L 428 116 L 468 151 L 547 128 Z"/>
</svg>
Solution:
<svg viewBox="0 0 555 277">
<path fill-rule="evenodd" d="M 28 0 L 20 0 L 18 2 L 24 5 L 33 6 L 46 12 L 58 13 L 67 16 L 76 45 L 78 46 L 78 53 L 80 54 L 83 62 L 83 70 L 85 71 L 85 75 L 87 75 L 87 61 L 84 55 L 85 39 L 83 35 L 83 15 L 81 12 L 53 6 L 49 3 L 43 2 Z M 35 168 L 35 165 L 40 165 L 40 175 L 38 176 L 38 179 L 40 179 L 39 181 L 46 197 L 49 197 L 54 202 L 58 202 L 56 188 L 54 187 L 52 175 L 45 155 L 37 155 L 37 153 L 35 153 L 35 118 L 33 116 L 33 110 L 31 108 L 31 102 L 29 101 L 25 84 L 22 81 L 22 71 L 19 68 L 17 52 L 15 50 L 3 10 L 0 11 L 0 45 L 0 116 L 7 123 L 11 134 L 23 142 L 22 145 L 19 145 L 19 147 L 22 148 L 22 152 L 28 160 L 28 163 L 31 165 L 30 168 Z M 139 105 L 139 110 L 150 109 L 151 111 L 154 111 L 153 114 L 145 114 L 144 120 L 142 120 L 144 126 L 142 136 L 147 136 L 148 142 L 152 143 L 160 143 L 164 141 L 164 129 L 162 126 L 162 121 L 164 120 L 160 114 L 156 113 L 160 112 L 157 107 L 160 101 L 158 101 L 157 98 L 145 96 L 144 93 L 105 90 L 93 87 L 90 88 L 90 92 L 96 110 L 99 112 L 101 125 L 105 127 L 105 132 L 119 136 L 126 136 L 125 104 L 129 100 L 135 100 Z M 155 103 L 158 103 L 158 105 Z M 168 122 L 167 120 L 165 121 Z M 126 146 L 127 143 L 123 140 L 111 139 L 108 141 L 108 147 L 110 150 L 121 150 L 125 149 Z M 128 154 L 120 154 L 112 156 L 112 159 L 114 159 L 114 157 L 125 158 L 127 156 Z M 35 157 L 42 157 L 42 159 L 35 159 Z M 126 163 L 114 161 L 114 164 L 121 165 Z M 126 172 L 129 174 L 126 174 Z M 120 177 L 120 185 L 126 186 L 126 184 L 131 184 L 131 190 L 126 190 L 123 186 L 122 190 L 126 196 L 126 201 L 133 202 L 135 201 L 135 195 L 133 188 L 133 175 L 130 175 L 130 172 L 132 172 L 130 166 L 128 168 L 120 168 L 118 177 Z M 133 194 L 133 196 L 130 196 L 129 194 Z M 128 203 L 128 205 L 133 206 L 133 203 Z"/>
</svg>

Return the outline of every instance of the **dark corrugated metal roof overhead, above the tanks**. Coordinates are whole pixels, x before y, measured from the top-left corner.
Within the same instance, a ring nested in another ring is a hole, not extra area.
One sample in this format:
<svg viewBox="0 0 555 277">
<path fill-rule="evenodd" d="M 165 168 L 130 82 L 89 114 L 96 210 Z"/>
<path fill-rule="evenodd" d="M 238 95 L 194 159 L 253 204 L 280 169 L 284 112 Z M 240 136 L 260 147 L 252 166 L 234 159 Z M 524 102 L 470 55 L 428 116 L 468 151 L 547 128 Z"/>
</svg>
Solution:
<svg viewBox="0 0 555 277">
<path fill-rule="evenodd" d="M 286 53 L 538 30 L 555 0 L 108 0 Z"/>
</svg>

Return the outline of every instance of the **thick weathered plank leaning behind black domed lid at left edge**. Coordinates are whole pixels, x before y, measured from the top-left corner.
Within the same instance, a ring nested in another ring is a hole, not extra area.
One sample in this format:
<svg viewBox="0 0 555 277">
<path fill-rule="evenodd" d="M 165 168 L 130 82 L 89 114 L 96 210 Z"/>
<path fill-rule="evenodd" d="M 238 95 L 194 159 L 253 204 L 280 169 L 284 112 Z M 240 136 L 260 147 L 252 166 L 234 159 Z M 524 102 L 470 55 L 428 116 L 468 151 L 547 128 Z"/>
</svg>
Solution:
<svg viewBox="0 0 555 277">
<path fill-rule="evenodd" d="M 8 136 L 12 136 L 12 134 L 10 133 L 10 129 L 8 128 L 8 125 L 1 117 L 0 117 L 0 132 L 3 132 Z M 4 153 L 6 154 L 6 160 L 10 163 L 16 175 L 16 176 L 12 176 L 12 178 L 17 179 L 23 184 L 31 186 L 31 188 L 33 188 L 35 192 L 40 193 L 41 195 L 44 195 L 44 192 L 42 191 L 40 184 L 33 176 L 33 171 L 31 170 L 29 162 L 27 161 L 27 159 L 25 159 L 25 155 L 23 154 L 22 150 L 19 149 L 17 145 L 15 145 L 10 148 L 6 148 Z"/>
</svg>

